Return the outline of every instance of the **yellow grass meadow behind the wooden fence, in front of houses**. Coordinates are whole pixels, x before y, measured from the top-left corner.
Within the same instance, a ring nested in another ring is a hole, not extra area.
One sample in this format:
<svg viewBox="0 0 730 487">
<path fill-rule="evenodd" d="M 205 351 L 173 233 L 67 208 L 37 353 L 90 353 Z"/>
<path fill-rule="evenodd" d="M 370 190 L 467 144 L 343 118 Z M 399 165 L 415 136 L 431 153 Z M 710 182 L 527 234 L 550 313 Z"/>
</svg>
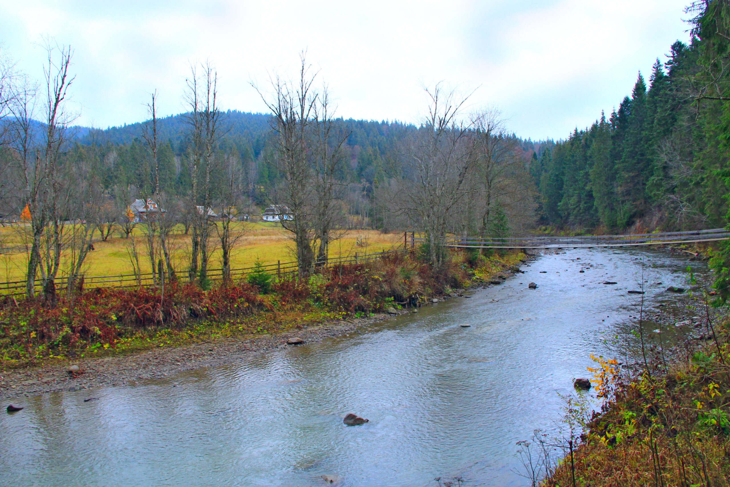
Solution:
<svg viewBox="0 0 730 487">
<path fill-rule="evenodd" d="M 233 269 L 253 266 L 253 263 L 257 260 L 264 264 L 276 264 L 277 261 L 284 264 L 296 260 L 293 252 L 293 242 L 289 239 L 291 234 L 283 229 L 280 223 L 237 222 L 234 223 L 234 226 L 237 230 L 242 231 L 243 235 L 237 242 L 231 256 L 231 267 Z M 25 247 L 27 239 L 24 235 L 25 231 L 27 231 L 27 227 L 24 226 L 0 228 L 0 248 Z M 383 234 L 375 230 L 348 230 L 342 232 L 342 238 L 330 244 L 330 258 L 353 257 L 355 253 L 361 256 L 366 253 L 390 250 L 399 244 L 402 245 L 403 242 L 402 233 Z M 151 272 L 142 226 L 137 226 L 133 235 L 142 272 Z M 98 231 L 94 238 L 100 238 Z M 359 246 L 357 245 L 358 238 L 361 239 L 361 245 Z M 190 235 L 183 234 L 183 228 L 180 226 L 179 229 L 175 229 L 175 233 L 171 235 L 170 240 L 175 270 L 181 275 L 186 275 L 186 269 L 189 266 Z M 94 250 L 88 254 L 82 269 L 87 280 L 89 277 L 96 276 L 132 275 L 133 270 L 128 254 L 130 243 L 130 239 L 120 237 L 120 229 L 115 229 L 107 242 L 101 242 L 101 240 L 94 242 Z M 210 244 L 215 250 L 212 253 L 209 267 L 210 269 L 220 269 L 220 243 L 215 231 L 210 238 Z M 0 254 L 0 282 L 8 283 L 23 280 L 27 263 L 28 253 L 24 250 L 18 253 Z M 64 255 L 61 262 L 61 272 L 59 272 L 60 276 L 67 274 L 68 265 L 68 258 Z"/>
</svg>

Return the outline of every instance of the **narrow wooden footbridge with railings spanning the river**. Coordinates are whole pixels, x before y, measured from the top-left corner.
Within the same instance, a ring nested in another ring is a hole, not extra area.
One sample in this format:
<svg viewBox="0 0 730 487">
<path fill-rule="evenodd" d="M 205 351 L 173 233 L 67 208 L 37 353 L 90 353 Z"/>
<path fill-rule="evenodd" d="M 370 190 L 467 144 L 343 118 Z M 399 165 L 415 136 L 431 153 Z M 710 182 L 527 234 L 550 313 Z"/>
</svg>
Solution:
<svg viewBox="0 0 730 487">
<path fill-rule="evenodd" d="M 616 235 L 557 235 L 543 237 L 520 235 L 495 239 L 493 237 L 451 236 L 447 246 L 454 248 L 519 248 L 519 249 L 566 249 L 634 247 L 648 245 L 681 245 L 697 242 L 718 242 L 730 239 L 726 229 L 665 231 L 653 234 L 616 234 Z M 415 247 L 425 238 L 418 231 L 404 232 L 404 245 Z"/>
</svg>

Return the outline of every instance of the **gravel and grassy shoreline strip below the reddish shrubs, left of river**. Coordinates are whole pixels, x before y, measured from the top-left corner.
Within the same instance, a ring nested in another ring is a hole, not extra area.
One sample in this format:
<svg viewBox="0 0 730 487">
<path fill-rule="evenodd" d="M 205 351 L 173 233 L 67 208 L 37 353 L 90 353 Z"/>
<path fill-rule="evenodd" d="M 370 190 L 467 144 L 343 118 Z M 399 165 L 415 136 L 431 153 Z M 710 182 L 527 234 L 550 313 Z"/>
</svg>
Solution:
<svg viewBox="0 0 730 487">
<path fill-rule="evenodd" d="M 456 254 L 461 258 L 461 254 Z M 518 273 L 515 264 L 527 261 L 520 253 L 482 258 L 467 272 L 465 288 L 445 285 L 438 297 L 423 297 L 418 306 L 446 299 L 458 299 L 467 289 L 483 288 L 491 280 Z M 459 262 L 461 265 L 461 259 Z M 281 301 L 280 296 L 268 296 Z M 391 299 L 390 302 L 394 300 Z M 412 312 L 414 307 L 393 302 L 391 313 L 336 312 L 318 310 L 311 303 L 288 310 L 262 310 L 254 315 L 222 321 L 199 321 L 183 329 L 139 330 L 118 342 L 115 348 L 86 347 L 68 350 L 64 356 L 42 358 L 40 364 L 0 369 L 0 396 L 13 399 L 57 391 L 82 391 L 104 386 L 122 386 L 153 380 L 184 370 L 215 367 L 244 360 L 258 353 L 287 348 L 290 338 L 304 343 L 321 342 L 330 337 L 357 332 L 393 314 Z M 306 308 L 306 312 L 302 309 Z M 395 309 L 397 308 L 397 309 Z M 418 309 L 416 307 L 416 309 Z M 393 313 L 395 311 L 395 313 Z M 252 332 L 253 331 L 253 332 Z M 80 373 L 69 373 L 76 365 Z"/>
</svg>

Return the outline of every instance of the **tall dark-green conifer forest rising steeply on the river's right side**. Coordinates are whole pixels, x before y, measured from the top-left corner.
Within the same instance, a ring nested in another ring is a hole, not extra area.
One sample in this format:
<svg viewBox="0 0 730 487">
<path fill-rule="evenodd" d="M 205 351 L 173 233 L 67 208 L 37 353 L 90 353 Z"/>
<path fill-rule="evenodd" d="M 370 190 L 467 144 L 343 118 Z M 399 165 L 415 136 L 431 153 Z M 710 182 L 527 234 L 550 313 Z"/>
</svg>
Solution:
<svg viewBox="0 0 730 487">
<path fill-rule="evenodd" d="M 675 42 L 610 115 L 534 156 L 544 223 L 607 230 L 727 223 L 727 9 L 715 1 L 691 10 L 689 45 Z"/>
</svg>

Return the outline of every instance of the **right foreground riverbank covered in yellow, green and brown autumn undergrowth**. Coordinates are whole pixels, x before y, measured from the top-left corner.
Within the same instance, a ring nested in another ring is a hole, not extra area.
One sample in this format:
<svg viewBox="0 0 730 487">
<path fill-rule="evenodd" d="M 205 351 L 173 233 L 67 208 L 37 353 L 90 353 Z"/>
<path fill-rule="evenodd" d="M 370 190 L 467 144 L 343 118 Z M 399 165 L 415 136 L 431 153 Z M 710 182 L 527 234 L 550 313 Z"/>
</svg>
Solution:
<svg viewBox="0 0 730 487">
<path fill-rule="evenodd" d="M 577 446 L 564 442 L 566 456 L 540 485 L 730 486 L 730 317 L 700 287 L 666 353 L 647 347 L 636 369 L 596 360 L 602 410 L 572 415 Z"/>
</svg>

